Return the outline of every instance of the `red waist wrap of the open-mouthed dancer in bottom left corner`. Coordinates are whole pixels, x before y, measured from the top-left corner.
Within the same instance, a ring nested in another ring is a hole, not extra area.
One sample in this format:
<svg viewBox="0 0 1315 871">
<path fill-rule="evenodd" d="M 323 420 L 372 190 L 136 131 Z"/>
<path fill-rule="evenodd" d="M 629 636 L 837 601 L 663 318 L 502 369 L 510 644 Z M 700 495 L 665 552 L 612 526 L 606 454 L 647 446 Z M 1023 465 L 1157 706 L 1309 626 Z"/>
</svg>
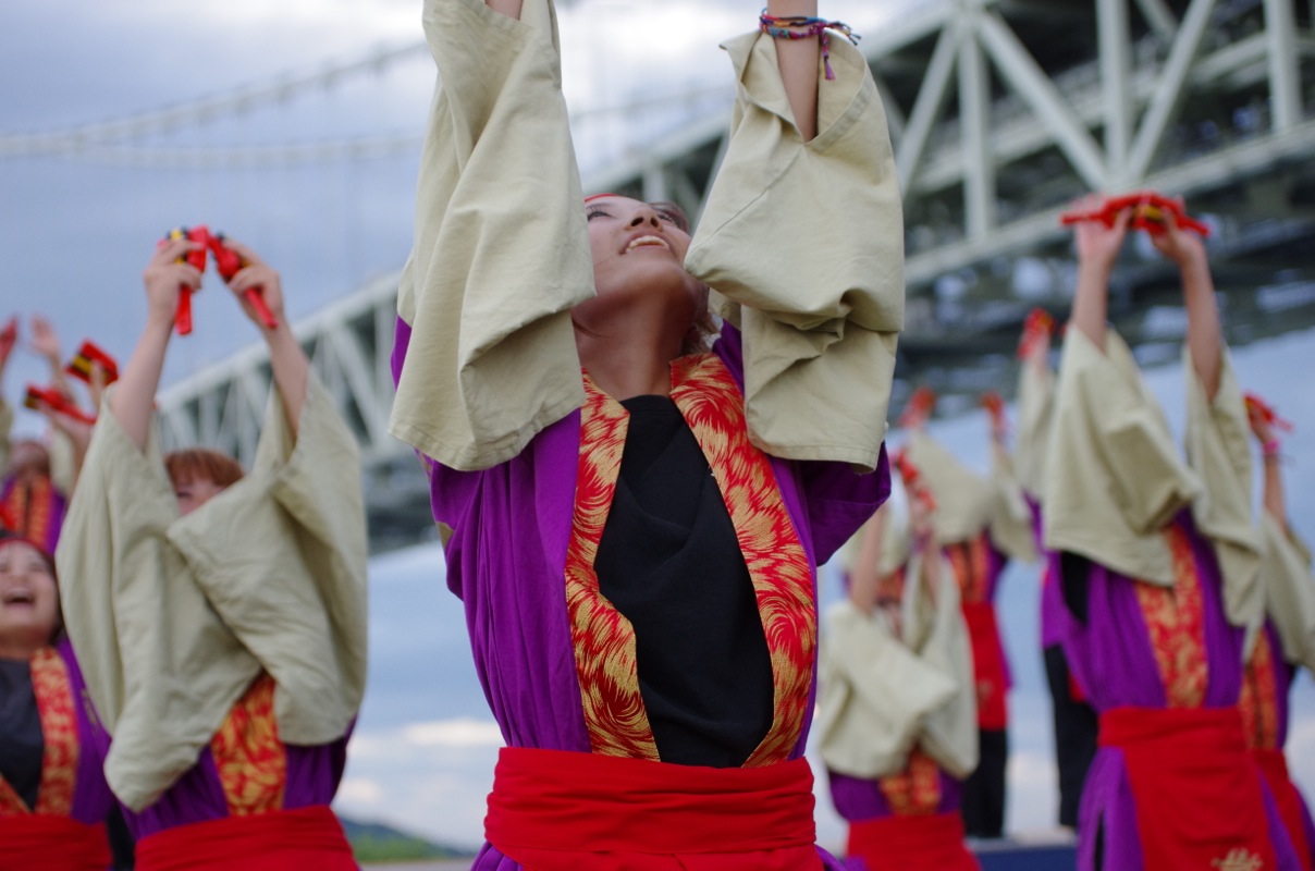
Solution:
<svg viewBox="0 0 1315 871">
<path fill-rule="evenodd" d="M 105 826 L 51 813 L 0 817 L 0 866 L 5 871 L 105 871 Z"/>
</svg>

